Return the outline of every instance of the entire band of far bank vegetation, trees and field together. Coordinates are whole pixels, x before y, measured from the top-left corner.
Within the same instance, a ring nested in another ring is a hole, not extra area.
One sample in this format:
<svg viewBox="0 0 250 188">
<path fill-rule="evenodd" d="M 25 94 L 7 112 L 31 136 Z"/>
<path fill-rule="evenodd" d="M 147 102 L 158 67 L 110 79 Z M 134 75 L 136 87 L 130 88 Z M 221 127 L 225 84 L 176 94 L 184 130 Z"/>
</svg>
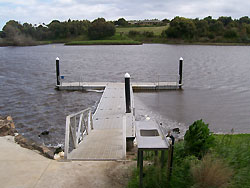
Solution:
<svg viewBox="0 0 250 188">
<path fill-rule="evenodd" d="M 23 46 L 47 43 L 77 43 L 91 40 L 118 40 L 146 43 L 250 43 L 250 18 L 239 19 L 211 16 L 203 19 L 175 17 L 172 20 L 133 20 L 104 18 L 89 20 L 53 20 L 49 24 L 21 24 L 8 21 L 0 31 L 1 46 Z M 84 42 L 83 42 L 84 44 Z M 132 44 L 132 43 L 131 43 Z"/>
</svg>

